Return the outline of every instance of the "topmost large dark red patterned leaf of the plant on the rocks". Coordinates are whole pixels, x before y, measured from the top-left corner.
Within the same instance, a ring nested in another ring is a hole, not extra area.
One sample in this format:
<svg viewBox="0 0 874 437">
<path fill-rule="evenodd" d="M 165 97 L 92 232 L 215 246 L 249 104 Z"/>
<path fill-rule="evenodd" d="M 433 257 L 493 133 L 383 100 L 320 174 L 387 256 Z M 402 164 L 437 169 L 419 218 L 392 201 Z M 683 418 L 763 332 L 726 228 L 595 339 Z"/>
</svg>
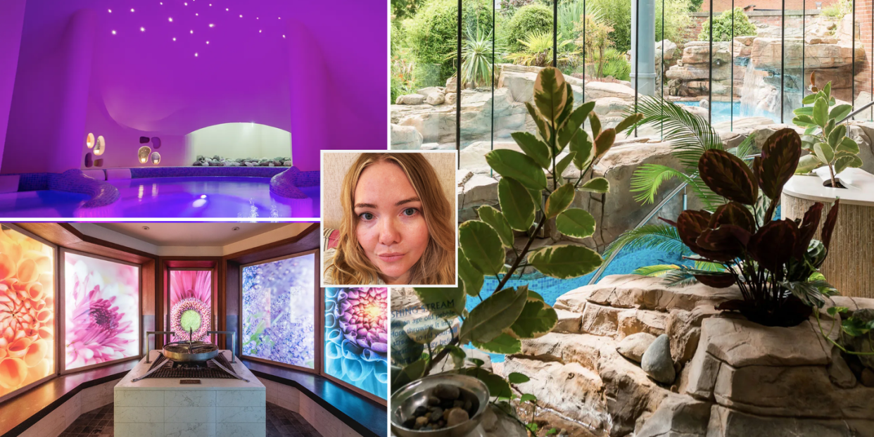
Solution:
<svg viewBox="0 0 874 437">
<path fill-rule="evenodd" d="M 784 128 L 769 136 L 762 145 L 761 159 L 753 166 L 762 192 L 770 199 L 780 198 L 789 178 L 801 158 L 801 136 L 792 128 Z"/>
</svg>

